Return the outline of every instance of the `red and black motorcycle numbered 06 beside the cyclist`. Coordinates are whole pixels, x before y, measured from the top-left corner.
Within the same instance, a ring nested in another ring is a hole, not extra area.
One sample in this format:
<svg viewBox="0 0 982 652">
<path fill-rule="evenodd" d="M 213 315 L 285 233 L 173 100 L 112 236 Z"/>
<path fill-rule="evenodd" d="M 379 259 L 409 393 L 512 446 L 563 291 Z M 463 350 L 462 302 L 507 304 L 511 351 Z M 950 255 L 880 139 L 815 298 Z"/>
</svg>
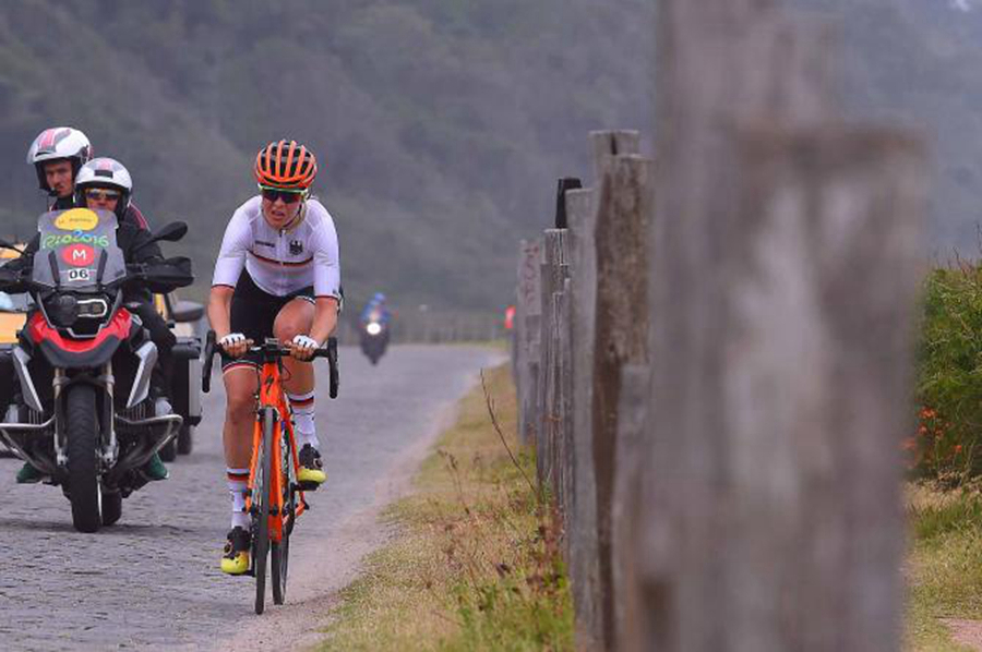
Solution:
<svg viewBox="0 0 982 652">
<path fill-rule="evenodd" d="M 47 213 L 38 219 L 40 246 L 29 275 L 0 267 L 0 291 L 28 292 L 37 306 L 11 351 L 19 387 L 0 439 L 47 484 L 61 486 L 82 532 L 119 520 L 122 499 L 147 482 L 141 467 L 182 422 L 155 413 L 149 385 L 157 348 L 123 290 L 188 286 L 191 262 L 128 265 L 116 229 L 108 212 Z M 149 240 L 176 242 L 187 231 L 173 222 Z"/>
</svg>

